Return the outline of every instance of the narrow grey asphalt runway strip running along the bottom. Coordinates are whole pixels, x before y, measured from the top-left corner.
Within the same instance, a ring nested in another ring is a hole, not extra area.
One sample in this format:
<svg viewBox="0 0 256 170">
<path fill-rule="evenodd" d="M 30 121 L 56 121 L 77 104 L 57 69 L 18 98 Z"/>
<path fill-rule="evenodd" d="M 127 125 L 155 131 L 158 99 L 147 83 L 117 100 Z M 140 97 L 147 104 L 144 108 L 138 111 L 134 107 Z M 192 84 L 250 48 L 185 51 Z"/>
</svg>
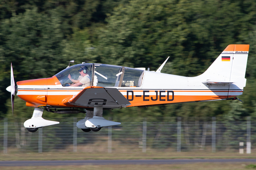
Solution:
<svg viewBox="0 0 256 170">
<path fill-rule="evenodd" d="M 256 159 L 143 159 L 143 160 L 19 160 L 0 161 L 0 166 L 138 165 L 190 163 L 256 163 Z"/>
</svg>

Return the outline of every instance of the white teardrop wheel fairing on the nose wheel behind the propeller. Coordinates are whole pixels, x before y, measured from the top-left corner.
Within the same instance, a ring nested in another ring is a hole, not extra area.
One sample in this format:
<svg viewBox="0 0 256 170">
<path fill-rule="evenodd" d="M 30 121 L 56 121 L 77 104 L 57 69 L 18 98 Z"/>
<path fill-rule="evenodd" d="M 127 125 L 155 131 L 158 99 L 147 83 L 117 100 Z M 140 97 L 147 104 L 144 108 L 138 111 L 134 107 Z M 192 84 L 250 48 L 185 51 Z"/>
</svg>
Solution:
<svg viewBox="0 0 256 170">
<path fill-rule="evenodd" d="M 42 128 L 44 126 L 50 126 L 54 124 L 59 124 L 60 122 L 55 122 L 55 121 L 48 121 L 45 120 L 42 117 L 33 117 L 24 122 L 24 127 L 25 128 Z"/>
</svg>

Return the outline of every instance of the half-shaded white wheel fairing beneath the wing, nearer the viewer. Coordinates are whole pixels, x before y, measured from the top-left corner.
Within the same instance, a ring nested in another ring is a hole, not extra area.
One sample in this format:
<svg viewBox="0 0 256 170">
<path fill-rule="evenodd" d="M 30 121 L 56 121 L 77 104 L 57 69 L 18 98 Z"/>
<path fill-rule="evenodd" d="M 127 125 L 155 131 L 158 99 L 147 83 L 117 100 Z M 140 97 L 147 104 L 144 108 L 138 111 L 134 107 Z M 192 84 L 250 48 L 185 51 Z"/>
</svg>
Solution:
<svg viewBox="0 0 256 170">
<path fill-rule="evenodd" d="M 107 126 L 114 126 L 121 124 L 119 122 L 114 122 L 114 121 L 108 121 L 105 118 L 101 116 L 93 116 L 93 118 L 90 118 L 85 122 L 85 126 L 87 128 L 102 128 L 102 127 L 107 127 Z"/>
</svg>

